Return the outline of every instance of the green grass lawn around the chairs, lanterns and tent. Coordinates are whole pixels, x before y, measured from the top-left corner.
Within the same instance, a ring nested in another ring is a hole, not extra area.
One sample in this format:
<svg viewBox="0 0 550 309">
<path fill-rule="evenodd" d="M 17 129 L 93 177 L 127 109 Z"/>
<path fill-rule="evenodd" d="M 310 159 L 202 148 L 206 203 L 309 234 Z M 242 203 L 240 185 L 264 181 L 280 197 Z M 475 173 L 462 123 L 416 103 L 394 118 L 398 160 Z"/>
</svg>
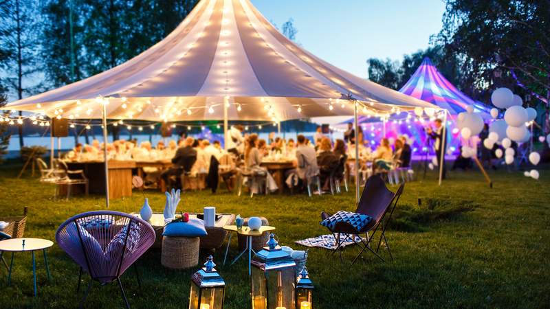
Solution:
<svg viewBox="0 0 550 309">
<path fill-rule="evenodd" d="M 104 209 L 102 196 L 74 196 L 53 201 L 54 187 L 30 175 L 17 179 L 21 165 L 0 166 L 0 216 L 19 215 L 29 207 L 25 236 L 54 240 L 59 225 L 83 211 Z M 307 263 L 314 281 L 314 308 L 543 308 L 550 306 L 550 171 L 539 181 L 521 172 L 491 172 L 489 189 L 478 172 L 454 172 L 442 187 L 435 174 L 425 181 L 407 183 L 398 205 L 388 241 L 395 257 L 380 262 L 366 254 L 353 266 L 357 249 L 338 255 L 311 249 Z M 393 190 L 396 188 L 393 187 Z M 146 192 L 154 211 L 164 208 L 164 195 Z M 418 206 L 418 199 L 422 199 Z M 111 201 L 111 209 L 138 211 L 143 196 Z M 353 211 L 353 192 L 337 196 L 235 196 L 225 190 L 186 193 L 178 211 L 201 211 L 215 206 L 218 212 L 241 216 L 265 216 L 274 225 L 281 244 L 300 248 L 295 240 L 320 236 L 320 211 Z M 235 239 L 235 238 L 233 238 Z M 236 240 L 230 256 L 237 253 Z M 39 297 L 32 297 L 30 254 L 14 260 L 12 286 L 0 265 L 1 308 L 74 308 L 78 266 L 56 245 L 50 249 L 52 282 L 45 282 L 39 261 Z M 386 255 L 387 256 L 387 255 Z M 204 254 L 201 253 L 201 260 Z M 225 308 L 250 308 L 250 282 L 245 259 L 221 266 L 223 253 L 214 261 L 227 285 Z M 122 276 L 133 308 L 188 308 L 190 275 L 196 271 L 172 271 L 160 264 L 160 252 L 148 252 L 137 261 L 143 289 L 133 271 Z M 84 287 L 88 278 L 83 281 Z M 87 308 L 123 306 L 118 286 L 94 285 Z"/>
</svg>

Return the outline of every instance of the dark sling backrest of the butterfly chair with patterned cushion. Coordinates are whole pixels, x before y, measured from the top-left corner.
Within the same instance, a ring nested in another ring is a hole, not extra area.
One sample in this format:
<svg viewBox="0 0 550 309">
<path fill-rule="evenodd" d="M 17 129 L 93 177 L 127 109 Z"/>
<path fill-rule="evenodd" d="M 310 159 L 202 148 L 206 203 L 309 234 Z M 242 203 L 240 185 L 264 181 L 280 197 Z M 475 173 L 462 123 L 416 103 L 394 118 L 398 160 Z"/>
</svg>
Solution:
<svg viewBox="0 0 550 309">
<path fill-rule="evenodd" d="M 397 190 L 399 196 L 403 192 L 403 185 Z M 380 175 L 373 175 L 366 181 L 363 193 L 357 207 L 358 214 L 366 214 L 373 218 L 373 222 L 378 224 L 384 214 L 394 201 L 397 192 L 394 194 L 386 187 L 386 183 Z"/>
</svg>

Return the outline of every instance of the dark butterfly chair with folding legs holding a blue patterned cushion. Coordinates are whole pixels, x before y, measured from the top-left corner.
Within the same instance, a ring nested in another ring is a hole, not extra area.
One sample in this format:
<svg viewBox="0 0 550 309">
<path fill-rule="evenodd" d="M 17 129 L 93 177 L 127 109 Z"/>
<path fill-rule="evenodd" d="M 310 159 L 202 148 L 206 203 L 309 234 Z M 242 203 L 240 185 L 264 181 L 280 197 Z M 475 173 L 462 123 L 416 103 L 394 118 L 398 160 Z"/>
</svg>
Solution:
<svg viewBox="0 0 550 309">
<path fill-rule="evenodd" d="M 399 186 L 399 189 L 397 189 L 397 192 L 394 194 L 388 190 L 380 175 L 371 176 L 366 181 L 357 210 L 355 212 L 358 214 L 371 216 L 372 220 L 360 230 L 355 229 L 355 227 L 348 222 L 337 222 L 333 229 L 330 230 L 336 238 L 337 244 L 337 247 L 333 252 L 340 250 L 340 260 L 342 260 L 342 244 L 348 239 L 352 240 L 361 248 L 360 253 L 353 259 L 352 264 L 358 260 L 365 250 L 371 251 L 371 253 L 377 256 L 377 258 L 384 261 L 384 259 L 378 254 L 382 240 L 384 240 L 390 258 L 393 260 L 393 255 L 391 254 L 390 245 L 388 244 L 385 232 L 388 228 L 393 211 L 395 210 L 395 206 L 397 206 L 399 197 L 401 197 L 401 194 L 403 193 L 404 186 L 405 184 L 402 183 Z M 385 218 L 388 211 L 388 218 Z M 325 211 L 321 213 L 322 220 L 329 217 L 330 215 Z M 378 241 L 376 249 L 373 249 L 373 247 L 371 247 L 371 242 L 379 229 L 381 230 L 380 240 Z M 369 233 L 371 233 L 370 236 Z M 340 239 L 340 234 L 345 236 L 343 240 Z M 365 234 L 365 239 L 361 240 L 361 242 L 356 242 L 355 236 L 360 236 L 362 234 Z"/>
</svg>

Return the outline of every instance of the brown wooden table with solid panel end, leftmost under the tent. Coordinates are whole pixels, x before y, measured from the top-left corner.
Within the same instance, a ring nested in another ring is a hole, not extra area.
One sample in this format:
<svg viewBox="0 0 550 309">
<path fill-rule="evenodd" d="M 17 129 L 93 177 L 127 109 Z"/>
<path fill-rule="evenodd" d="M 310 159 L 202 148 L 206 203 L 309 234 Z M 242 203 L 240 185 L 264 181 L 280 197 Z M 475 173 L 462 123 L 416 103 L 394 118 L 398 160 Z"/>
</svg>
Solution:
<svg viewBox="0 0 550 309">
<path fill-rule="evenodd" d="M 105 194 L 103 161 L 67 161 L 69 170 L 83 170 L 89 180 L 89 192 Z M 109 160 L 109 198 L 132 196 L 132 169 L 135 161 Z"/>
</svg>

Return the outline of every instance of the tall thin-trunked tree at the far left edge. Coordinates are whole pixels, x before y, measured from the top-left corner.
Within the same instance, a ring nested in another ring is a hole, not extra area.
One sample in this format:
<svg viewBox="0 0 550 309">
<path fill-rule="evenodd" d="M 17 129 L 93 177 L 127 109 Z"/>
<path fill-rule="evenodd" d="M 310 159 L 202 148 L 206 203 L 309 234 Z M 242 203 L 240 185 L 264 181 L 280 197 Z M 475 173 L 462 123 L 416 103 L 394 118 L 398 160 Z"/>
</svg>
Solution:
<svg viewBox="0 0 550 309">
<path fill-rule="evenodd" d="M 24 0 L 5 0 L 0 5 L 0 49 L 5 51 L 0 65 L 6 76 L 3 82 L 19 100 L 41 87 L 36 83 L 40 71 L 36 61 L 39 49 L 36 6 L 34 1 Z M 22 125 L 19 125 L 19 146 L 24 146 Z"/>
</svg>

